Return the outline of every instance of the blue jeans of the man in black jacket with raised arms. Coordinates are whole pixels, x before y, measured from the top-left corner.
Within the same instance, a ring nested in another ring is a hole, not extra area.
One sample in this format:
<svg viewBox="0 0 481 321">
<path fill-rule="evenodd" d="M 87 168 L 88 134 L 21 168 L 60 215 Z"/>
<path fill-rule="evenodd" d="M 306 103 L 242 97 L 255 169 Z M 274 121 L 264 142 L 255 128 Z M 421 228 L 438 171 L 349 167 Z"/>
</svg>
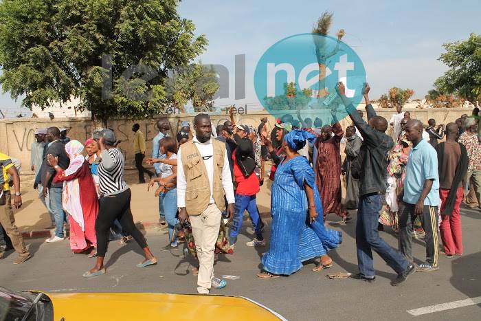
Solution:
<svg viewBox="0 0 481 321">
<path fill-rule="evenodd" d="M 381 195 L 368 194 L 359 198 L 356 223 L 357 267 L 359 273 L 368 278 L 375 276 L 372 250 L 379 254 L 397 274 L 404 272 L 409 265 L 401 253 L 379 237 L 377 230 L 379 210 L 381 210 Z"/>
</svg>

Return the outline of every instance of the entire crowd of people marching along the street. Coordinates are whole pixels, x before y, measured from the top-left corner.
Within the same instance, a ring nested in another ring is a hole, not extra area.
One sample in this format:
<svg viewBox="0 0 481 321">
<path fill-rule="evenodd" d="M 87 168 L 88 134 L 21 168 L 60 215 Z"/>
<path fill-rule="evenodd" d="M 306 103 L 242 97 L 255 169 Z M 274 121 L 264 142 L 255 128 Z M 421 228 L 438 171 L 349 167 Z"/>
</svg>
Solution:
<svg viewBox="0 0 481 321">
<path fill-rule="evenodd" d="M 376 115 L 366 84 L 366 122 L 363 112 L 346 97 L 342 82 L 336 90 L 352 120 L 346 131 L 335 112 L 332 124 L 324 126 L 318 118 L 302 119 L 300 111 L 298 120 L 284 115 L 270 135 L 267 118 L 254 128 L 236 123 L 231 110 L 230 120 L 213 132 L 210 116 L 200 113 L 193 130 L 182 122 L 175 137 L 169 135 L 168 120 L 158 120 L 152 157 L 146 158 L 144 133 L 139 124 L 133 125 L 139 184 L 146 182 L 147 174 L 148 190 L 155 187 L 159 197 L 159 223 L 168 228 L 168 244 L 161 250 L 175 251 L 179 243 L 188 244 L 198 260 L 192 273 L 198 275 L 199 294 L 227 284 L 215 277 L 214 259 L 221 252 L 234 253 L 239 246 L 246 210 L 254 232 L 246 245 L 268 245 L 257 274 L 262 279 L 293 274 L 302 262 L 314 258 L 318 259 L 314 272 L 333 266 L 328 251 L 342 243 L 342 232 L 326 227 L 326 214 L 337 214 L 339 224 L 346 225 L 350 210 L 357 210 L 359 273 L 353 278 L 375 280 L 372 251 L 396 272 L 392 285 L 399 285 L 414 271 L 435 271 L 439 268 L 438 229 L 444 254 L 462 255 L 460 205 L 465 200 L 470 207 L 481 206 L 479 109 L 446 126 L 436 126 L 436 120 L 430 119 L 424 128 L 398 106 L 388 122 Z M 133 221 L 124 155 L 115 132 L 96 131 L 84 144 L 66 133 L 56 127 L 37 129 L 32 143 L 34 188 L 54 228 L 46 242 L 63 241 L 68 229 L 71 251 L 96 257 L 93 268 L 83 274 L 86 278 L 106 273 L 104 257 L 113 239 L 137 242 L 145 256 L 137 267 L 157 264 Z M 269 242 L 267 222 L 256 203 L 268 160 L 272 163 L 267 184 L 271 189 Z M 155 172 L 144 164 L 153 165 Z M 12 247 L 19 254 L 14 263 L 19 264 L 30 258 L 11 206 L 12 198 L 15 208 L 22 205 L 19 168 L 14 159 L 0 153 L 0 169 L 0 236 L 6 241 L 0 255 L 5 247 Z M 396 232 L 397 250 L 379 236 L 385 226 Z M 426 258 L 416 267 L 412 237 L 420 235 Z"/>
</svg>

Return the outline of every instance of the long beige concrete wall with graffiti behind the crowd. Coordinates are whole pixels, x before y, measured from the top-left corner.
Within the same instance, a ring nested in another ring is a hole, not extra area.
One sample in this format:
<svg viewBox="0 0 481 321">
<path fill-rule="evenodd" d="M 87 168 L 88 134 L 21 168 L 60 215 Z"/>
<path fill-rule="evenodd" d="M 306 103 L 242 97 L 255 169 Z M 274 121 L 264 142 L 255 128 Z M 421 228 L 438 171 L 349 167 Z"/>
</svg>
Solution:
<svg viewBox="0 0 481 321">
<path fill-rule="evenodd" d="M 359 109 L 363 109 L 359 106 Z M 421 120 L 424 124 L 429 118 L 434 118 L 438 124 L 447 124 L 454 122 L 456 118 L 460 118 L 463 113 L 471 114 L 471 109 L 405 109 L 411 112 L 412 118 Z M 275 119 L 266 111 L 244 111 L 243 115 L 236 115 L 236 121 L 243 124 L 250 124 L 255 127 L 260 123 L 260 118 L 267 116 L 269 119 L 268 129 L 273 128 Z M 394 113 L 393 109 L 377 109 L 378 115 L 388 119 Z M 293 117 L 295 111 L 292 112 Z M 168 118 L 172 127 L 170 135 L 175 136 L 180 127 L 182 120 L 188 120 L 192 124 L 195 114 L 181 114 L 181 115 L 162 115 L 152 119 L 146 120 L 110 120 L 108 127 L 115 130 L 119 140 L 122 140 L 120 148 L 126 156 L 126 165 L 134 165 L 133 155 L 133 132 L 131 131 L 132 124 L 138 122 L 141 126 L 141 131 L 146 135 L 147 151 L 146 155 L 150 156 L 152 151 L 152 139 L 157 135 L 155 122 L 160 118 Z M 366 116 L 365 116 L 366 117 Z M 228 119 L 225 113 L 217 113 L 211 116 L 213 130 L 218 124 L 222 124 Z M 350 119 L 345 118 L 341 121 L 343 127 L 350 124 Z M 48 118 L 31 118 L 31 119 L 11 119 L 0 120 L 0 151 L 12 157 L 18 158 L 22 162 L 22 174 L 29 175 L 30 171 L 30 146 L 34 141 L 34 131 L 38 128 L 46 128 L 49 126 L 65 127 L 69 129 L 69 137 L 72 140 L 85 140 L 91 136 L 91 120 L 89 118 L 55 118 L 49 120 Z"/>
</svg>

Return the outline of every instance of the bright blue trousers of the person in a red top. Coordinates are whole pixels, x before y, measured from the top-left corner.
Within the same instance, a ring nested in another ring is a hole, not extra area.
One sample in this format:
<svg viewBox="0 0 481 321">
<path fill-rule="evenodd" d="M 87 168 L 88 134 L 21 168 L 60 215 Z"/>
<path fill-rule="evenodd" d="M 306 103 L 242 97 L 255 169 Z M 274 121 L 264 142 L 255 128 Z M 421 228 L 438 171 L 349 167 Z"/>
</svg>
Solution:
<svg viewBox="0 0 481 321">
<path fill-rule="evenodd" d="M 237 236 L 242 228 L 242 221 L 244 212 L 247 210 L 249 217 L 251 218 L 252 225 L 254 225 L 254 232 L 259 241 L 262 241 L 262 222 L 260 221 L 259 210 L 257 209 L 256 195 L 246 196 L 236 194 L 236 203 L 234 204 L 234 220 L 232 221 L 232 227 L 230 228 L 229 242 L 231 245 L 236 243 Z"/>
</svg>

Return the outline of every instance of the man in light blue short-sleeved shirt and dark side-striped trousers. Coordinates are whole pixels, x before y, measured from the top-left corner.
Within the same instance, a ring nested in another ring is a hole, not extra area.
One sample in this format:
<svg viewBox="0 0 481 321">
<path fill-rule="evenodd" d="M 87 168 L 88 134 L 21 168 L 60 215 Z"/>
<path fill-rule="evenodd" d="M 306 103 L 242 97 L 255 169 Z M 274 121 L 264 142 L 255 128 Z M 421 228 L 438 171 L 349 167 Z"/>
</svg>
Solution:
<svg viewBox="0 0 481 321">
<path fill-rule="evenodd" d="M 426 232 L 426 262 L 416 271 L 432 272 L 438 267 L 438 206 L 439 175 L 438 154 L 427 140 L 423 139 L 423 123 L 410 120 L 406 124 L 407 140 L 412 142 L 404 179 L 403 203 L 399 211 L 399 250 L 408 261 L 412 257 L 412 222 L 421 218 Z"/>
</svg>

